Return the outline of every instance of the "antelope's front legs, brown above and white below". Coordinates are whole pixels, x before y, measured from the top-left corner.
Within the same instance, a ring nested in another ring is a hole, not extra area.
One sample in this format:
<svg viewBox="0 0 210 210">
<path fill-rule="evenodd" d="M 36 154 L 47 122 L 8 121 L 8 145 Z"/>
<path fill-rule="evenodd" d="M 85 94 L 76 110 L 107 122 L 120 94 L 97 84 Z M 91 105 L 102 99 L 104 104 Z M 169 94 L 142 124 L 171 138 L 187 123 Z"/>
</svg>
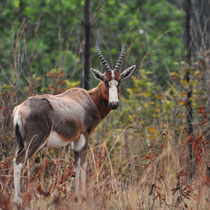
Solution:
<svg viewBox="0 0 210 210">
<path fill-rule="evenodd" d="M 72 148 L 75 156 L 75 195 L 79 197 L 79 179 L 80 171 L 82 178 L 82 196 L 86 197 L 86 166 L 87 166 L 87 148 L 88 135 L 81 134 L 79 140 L 72 142 Z"/>
</svg>

